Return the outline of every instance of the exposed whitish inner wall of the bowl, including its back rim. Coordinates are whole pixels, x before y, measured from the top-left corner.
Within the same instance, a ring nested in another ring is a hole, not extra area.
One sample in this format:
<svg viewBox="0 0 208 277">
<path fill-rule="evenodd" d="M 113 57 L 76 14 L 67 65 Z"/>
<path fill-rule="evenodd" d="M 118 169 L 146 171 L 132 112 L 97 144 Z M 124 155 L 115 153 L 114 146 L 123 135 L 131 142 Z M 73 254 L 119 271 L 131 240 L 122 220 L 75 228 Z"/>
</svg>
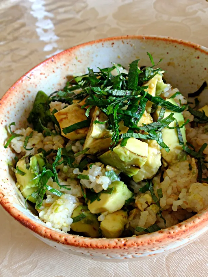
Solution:
<svg viewBox="0 0 208 277">
<path fill-rule="evenodd" d="M 25 209 L 24 199 L 15 186 L 8 170 L 8 162 L 15 154 L 3 145 L 8 137 L 7 127 L 15 121 L 16 128 L 27 126 L 27 116 L 38 90 L 48 95 L 62 89 L 67 76 L 86 73 L 87 68 L 108 67 L 111 62 L 128 67 L 129 62 L 140 59 L 139 65 L 151 65 L 146 52 L 153 55 L 155 63 L 163 59 L 160 67 L 167 72 L 165 79 L 177 87 L 185 96 L 196 91 L 208 80 L 207 50 L 196 44 L 155 37 L 123 37 L 103 39 L 73 47 L 51 57 L 21 77 L 3 96 L 0 102 L 0 198 L 8 199 L 18 211 L 34 222 L 44 223 Z M 202 103 L 207 101 L 208 90 L 200 95 Z M 59 232 L 59 231 L 57 231 Z M 60 231 L 61 232 L 61 231 Z"/>
</svg>

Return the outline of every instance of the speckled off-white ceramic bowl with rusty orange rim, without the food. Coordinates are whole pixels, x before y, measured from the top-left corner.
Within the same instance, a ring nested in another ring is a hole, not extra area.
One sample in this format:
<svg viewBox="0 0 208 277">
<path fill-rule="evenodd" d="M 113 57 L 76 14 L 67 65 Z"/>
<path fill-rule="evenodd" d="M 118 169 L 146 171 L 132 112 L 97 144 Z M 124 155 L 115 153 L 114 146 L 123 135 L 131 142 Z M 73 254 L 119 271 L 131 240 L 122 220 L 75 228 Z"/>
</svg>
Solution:
<svg viewBox="0 0 208 277">
<path fill-rule="evenodd" d="M 25 127 L 38 90 L 46 93 L 64 87 L 67 76 L 110 66 L 110 62 L 128 63 L 140 59 L 148 65 L 146 52 L 155 60 L 163 58 L 166 80 L 185 95 L 195 91 L 208 79 L 208 49 L 182 40 L 155 36 L 126 36 L 96 40 L 75 46 L 40 63 L 23 75 L 0 101 L 0 202 L 8 213 L 45 243 L 67 253 L 101 261 L 135 261 L 169 253 L 187 245 L 208 229 L 208 209 L 173 227 L 142 236 L 118 239 L 94 239 L 70 235 L 47 227 L 25 209 L 24 199 L 8 171 L 8 161 L 15 156 L 3 145 L 7 138 L 5 126 L 12 121 Z M 206 91 L 200 96 L 204 102 Z"/>
</svg>

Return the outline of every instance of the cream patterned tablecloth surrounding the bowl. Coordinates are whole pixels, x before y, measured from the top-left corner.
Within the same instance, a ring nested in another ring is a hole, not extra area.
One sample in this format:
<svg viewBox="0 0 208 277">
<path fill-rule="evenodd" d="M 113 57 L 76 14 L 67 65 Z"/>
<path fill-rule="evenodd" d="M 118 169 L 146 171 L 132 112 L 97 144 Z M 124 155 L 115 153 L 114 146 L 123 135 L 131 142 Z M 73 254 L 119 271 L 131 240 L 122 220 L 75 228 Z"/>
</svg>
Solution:
<svg viewBox="0 0 208 277">
<path fill-rule="evenodd" d="M 0 0 L 0 96 L 47 57 L 82 42 L 151 34 L 208 47 L 206 0 Z M 208 234 L 166 256 L 88 261 L 53 249 L 0 209 L 0 276 L 207 277 Z"/>
</svg>

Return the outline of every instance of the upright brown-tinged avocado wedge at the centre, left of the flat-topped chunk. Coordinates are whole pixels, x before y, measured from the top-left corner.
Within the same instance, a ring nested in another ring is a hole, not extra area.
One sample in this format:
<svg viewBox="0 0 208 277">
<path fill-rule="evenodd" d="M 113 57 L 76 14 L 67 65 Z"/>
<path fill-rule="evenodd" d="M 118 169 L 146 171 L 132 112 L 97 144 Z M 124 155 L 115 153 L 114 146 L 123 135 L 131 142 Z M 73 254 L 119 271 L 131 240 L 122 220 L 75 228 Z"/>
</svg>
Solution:
<svg viewBox="0 0 208 277">
<path fill-rule="evenodd" d="M 83 149 L 90 148 L 87 154 L 96 154 L 110 147 L 112 132 L 107 130 L 107 123 L 94 123 L 95 120 L 103 122 L 107 119 L 107 116 L 96 107 L 83 145 Z"/>
</svg>

